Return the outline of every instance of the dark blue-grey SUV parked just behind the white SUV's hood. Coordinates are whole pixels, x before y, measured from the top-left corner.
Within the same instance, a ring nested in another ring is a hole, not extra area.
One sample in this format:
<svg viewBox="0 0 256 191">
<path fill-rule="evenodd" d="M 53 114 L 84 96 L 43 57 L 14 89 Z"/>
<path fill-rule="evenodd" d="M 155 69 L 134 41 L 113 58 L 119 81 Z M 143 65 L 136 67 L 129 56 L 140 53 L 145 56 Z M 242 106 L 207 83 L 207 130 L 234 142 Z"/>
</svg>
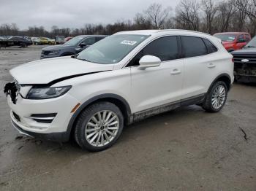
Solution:
<svg viewBox="0 0 256 191">
<path fill-rule="evenodd" d="M 67 55 L 76 55 L 82 50 L 85 50 L 86 47 L 89 47 L 91 44 L 98 42 L 101 39 L 104 39 L 104 35 L 80 35 L 75 36 L 70 39 L 68 42 L 56 45 L 49 46 L 42 49 L 41 59 L 43 58 L 54 58 L 59 56 Z"/>
</svg>

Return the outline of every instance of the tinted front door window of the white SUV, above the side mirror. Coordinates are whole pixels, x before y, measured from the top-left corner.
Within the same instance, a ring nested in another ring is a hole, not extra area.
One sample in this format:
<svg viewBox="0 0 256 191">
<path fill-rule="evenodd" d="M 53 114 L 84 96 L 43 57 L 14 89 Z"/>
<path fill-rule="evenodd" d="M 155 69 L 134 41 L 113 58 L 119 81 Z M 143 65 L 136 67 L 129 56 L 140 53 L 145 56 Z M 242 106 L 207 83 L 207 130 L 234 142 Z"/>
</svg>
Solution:
<svg viewBox="0 0 256 191">
<path fill-rule="evenodd" d="M 132 58 L 132 61 L 127 66 L 138 66 L 139 61 L 144 55 L 154 55 L 160 58 L 161 61 L 171 61 L 178 58 L 178 42 L 176 36 L 165 36 L 154 40 L 143 50 Z"/>
</svg>

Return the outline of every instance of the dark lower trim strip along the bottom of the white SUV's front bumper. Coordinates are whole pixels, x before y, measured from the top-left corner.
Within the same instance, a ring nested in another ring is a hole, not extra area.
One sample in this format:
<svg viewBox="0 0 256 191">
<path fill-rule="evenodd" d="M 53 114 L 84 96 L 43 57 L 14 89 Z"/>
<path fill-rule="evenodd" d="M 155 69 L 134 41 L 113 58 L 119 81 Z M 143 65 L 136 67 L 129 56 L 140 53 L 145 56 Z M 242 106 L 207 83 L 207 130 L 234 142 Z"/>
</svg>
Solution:
<svg viewBox="0 0 256 191">
<path fill-rule="evenodd" d="M 34 133 L 28 130 L 23 130 L 20 126 L 14 121 L 11 120 L 13 127 L 18 130 L 20 134 L 31 136 L 37 139 L 43 139 L 47 141 L 55 141 L 55 142 L 67 142 L 69 141 L 69 133 L 61 132 L 61 133 Z"/>
</svg>

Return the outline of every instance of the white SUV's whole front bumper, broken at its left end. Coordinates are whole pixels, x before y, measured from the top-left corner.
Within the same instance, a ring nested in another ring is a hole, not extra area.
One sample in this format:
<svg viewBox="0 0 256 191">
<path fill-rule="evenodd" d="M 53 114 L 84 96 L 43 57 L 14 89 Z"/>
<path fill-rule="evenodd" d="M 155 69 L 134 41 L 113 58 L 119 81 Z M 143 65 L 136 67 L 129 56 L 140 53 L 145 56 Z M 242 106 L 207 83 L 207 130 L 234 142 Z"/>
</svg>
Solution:
<svg viewBox="0 0 256 191">
<path fill-rule="evenodd" d="M 72 108 L 78 103 L 72 95 L 45 100 L 29 100 L 18 95 L 15 100 L 13 103 L 11 96 L 7 95 L 12 125 L 19 133 L 48 141 L 69 140 L 67 126 Z"/>
</svg>

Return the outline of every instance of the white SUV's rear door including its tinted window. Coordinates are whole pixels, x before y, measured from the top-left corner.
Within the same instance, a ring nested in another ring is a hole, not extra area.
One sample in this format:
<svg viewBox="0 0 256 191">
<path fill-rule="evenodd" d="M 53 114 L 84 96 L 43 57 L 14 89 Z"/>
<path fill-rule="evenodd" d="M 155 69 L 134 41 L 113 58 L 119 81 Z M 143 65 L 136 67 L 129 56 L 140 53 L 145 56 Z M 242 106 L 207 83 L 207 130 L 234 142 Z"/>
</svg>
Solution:
<svg viewBox="0 0 256 191">
<path fill-rule="evenodd" d="M 207 92 L 221 67 L 217 47 L 208 39 L 196 36 L 181 36 L 181 44 L 185 69 L 182 99 L 200 96 Z"/>
</svg>

